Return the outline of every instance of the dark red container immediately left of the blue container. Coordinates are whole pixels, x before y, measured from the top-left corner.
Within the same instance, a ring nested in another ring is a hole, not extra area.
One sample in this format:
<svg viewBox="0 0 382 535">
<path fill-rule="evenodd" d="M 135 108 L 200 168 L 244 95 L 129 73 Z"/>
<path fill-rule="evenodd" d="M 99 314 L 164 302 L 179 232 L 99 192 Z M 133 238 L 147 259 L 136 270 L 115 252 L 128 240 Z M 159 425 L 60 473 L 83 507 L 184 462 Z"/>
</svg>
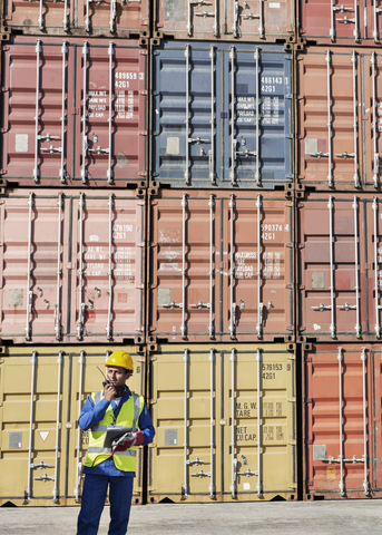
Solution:
<svg viewBox="0 0 382 535">
<path fill-rule="evenodd" d="M 18 36 L 2 45 L 2 64 L 9 184 L 146 184 L 147 50 L 138 41 Z"/>
</svg>

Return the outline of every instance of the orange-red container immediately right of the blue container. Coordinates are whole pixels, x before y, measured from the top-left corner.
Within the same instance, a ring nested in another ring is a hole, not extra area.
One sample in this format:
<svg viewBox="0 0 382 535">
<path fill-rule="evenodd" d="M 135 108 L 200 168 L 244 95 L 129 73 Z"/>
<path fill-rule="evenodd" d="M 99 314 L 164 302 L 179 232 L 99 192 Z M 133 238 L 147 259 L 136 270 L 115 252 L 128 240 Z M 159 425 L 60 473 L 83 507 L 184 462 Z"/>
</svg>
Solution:
<svg viewBox="0 0 382 535">
<path fill-rule="evenodd" d="M 297 54 L 297 181 L 315 189 L 378 191 L 382 55 L 310 47 Z"/>
</svg>

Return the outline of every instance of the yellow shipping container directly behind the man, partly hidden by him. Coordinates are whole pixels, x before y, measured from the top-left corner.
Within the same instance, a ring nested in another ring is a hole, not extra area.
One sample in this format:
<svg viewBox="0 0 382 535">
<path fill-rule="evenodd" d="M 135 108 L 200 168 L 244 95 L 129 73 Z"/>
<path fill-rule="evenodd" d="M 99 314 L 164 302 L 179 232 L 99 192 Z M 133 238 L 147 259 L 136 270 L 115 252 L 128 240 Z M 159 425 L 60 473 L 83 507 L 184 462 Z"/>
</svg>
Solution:
<svg viewBox="0 0 382 535">
<path fill-rule="evenodd" d="M 105 360 L 124 349 L 134 361 L 128 386 L 145 393 L 145 353 L 136 347 L 7 348 L 0 357 L 0 506 L 76 505 L 88 434 L 78 428 L 87 396 L 102 388 Z M 138 450 L 134 504 L 143 498 Z"/>
</svg>

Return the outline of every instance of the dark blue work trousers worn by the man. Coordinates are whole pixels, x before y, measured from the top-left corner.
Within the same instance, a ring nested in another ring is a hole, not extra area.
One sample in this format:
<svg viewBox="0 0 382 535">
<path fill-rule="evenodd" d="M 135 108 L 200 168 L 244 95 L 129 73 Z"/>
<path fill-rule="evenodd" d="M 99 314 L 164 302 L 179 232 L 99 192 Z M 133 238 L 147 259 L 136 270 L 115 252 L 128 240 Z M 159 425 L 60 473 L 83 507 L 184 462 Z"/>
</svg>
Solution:
<svg viewBox="0 0 382 535">
<path fill-rule="evenodd" d="M 86 474 L 77 535 L 97 535 L 107 487 L 110 500 L 108 535 L 125 535 L 130 516 L 134 477 Z"/>
</svg>

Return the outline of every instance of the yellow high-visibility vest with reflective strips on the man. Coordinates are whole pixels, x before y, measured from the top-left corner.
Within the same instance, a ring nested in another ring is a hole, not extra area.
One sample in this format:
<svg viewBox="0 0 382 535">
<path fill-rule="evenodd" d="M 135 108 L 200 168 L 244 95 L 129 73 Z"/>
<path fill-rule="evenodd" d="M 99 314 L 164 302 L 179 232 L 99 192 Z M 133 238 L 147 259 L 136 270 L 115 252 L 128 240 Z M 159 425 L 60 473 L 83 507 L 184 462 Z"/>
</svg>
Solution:
<svg viewBox="0 0 382 535">
<path fill-rule="evenodd" d="M 97 405 L 105 396 L 104 390 L 91 393 L 91 400 Z M 111 457 L 111 448 L 104 448 L 105 436 L 108 426 L 131 427 L 133 431 L 138 430 L 137 422 L 141 411 L 144 410 L 145 399 L 143 396 L 131 393 L 127 401 L 120 407 L 115 419 L 111 403 L 106 409 L 104 419 L 91 427 L 89 432 L 89 447 L 85 466 L 97 466 L 104 460 Z M 135 471 L 135 461 L 137 456 L 137 447 L 133 446 L 126 451 L 115 451 L 112 455 L 114 464 L 118 470 Z"/>
</svg>

